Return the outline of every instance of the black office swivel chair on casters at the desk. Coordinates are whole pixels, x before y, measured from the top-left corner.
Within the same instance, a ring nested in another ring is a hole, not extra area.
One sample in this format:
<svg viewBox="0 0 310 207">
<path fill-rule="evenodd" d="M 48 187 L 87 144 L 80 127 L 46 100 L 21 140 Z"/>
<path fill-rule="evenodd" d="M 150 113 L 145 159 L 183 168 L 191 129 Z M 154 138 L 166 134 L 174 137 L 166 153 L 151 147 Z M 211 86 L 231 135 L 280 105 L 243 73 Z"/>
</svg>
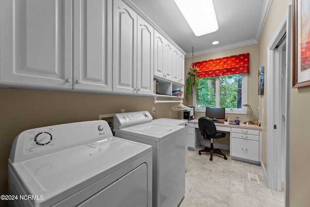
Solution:
<svg viewBox="0 0 310 207">
<path fill-rule="evenodd" d="M 220 139 L 226 136 L 225 133 L 217 132 L 217 127 L 213 123 L 213 121 L 209 117 L 201 117 L 198 120 L 198 126 L 200 133 L 205 140 L 211 140 L 210 147 L 204 147 L 204 149 L 199 150 L 199 154 L 201 155 L 202 152 L 210 152 L 210 160 L 212 161 L 213 153 L 219 154 L 224 156 L 224 159 L 227 159 L 226 155 L 221 152 L 220 149 L 213 148 L 213 139 Z M 219 140 L 218 140 L 219 141 Z"/>
</svg>

